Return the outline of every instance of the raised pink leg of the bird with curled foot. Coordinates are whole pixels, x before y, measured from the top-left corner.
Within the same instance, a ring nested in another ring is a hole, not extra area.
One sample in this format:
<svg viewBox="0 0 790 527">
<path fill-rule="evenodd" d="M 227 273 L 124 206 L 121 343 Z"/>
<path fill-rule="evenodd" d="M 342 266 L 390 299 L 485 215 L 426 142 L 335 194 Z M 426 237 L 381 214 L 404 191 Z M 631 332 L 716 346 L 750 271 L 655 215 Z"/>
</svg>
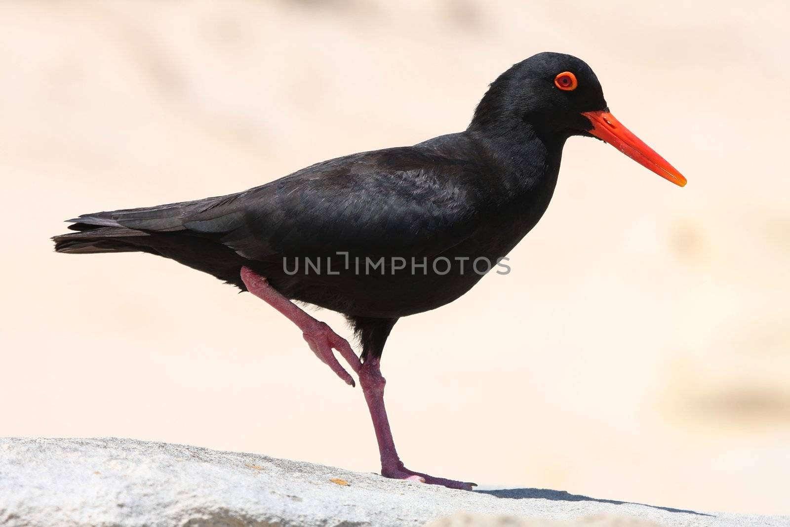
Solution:
<svg viewBox="0 0 790 527">
<path fill-rule="evenodd" d="M 347 384 L 355 386 L 354 379 L 345 371 L 340 363 L 337 362 L 333 349 L 337 349 L 352 370 L 359 373 L 359 368 L 362 363 L 359 357 L 356 356 L 354 350 L 343 337 L 335 333 L 332 328 L 327 326 L 324 322 L 320 322 L 311 317 L 305 311 L 299 308 L 291 300 L 287 299 L 280 292 L 277 292 L 269 284 L 269 280 L 261 277 L 249 267 L 242 267 L 241 277 L 246 285 L 247 291 L 257 296 L 259 299 L 264 300 L 269 306 L 273 307 L 280 313 L 284 314 L 288 320 L 293 322 L 299 329 L 302 330 L 302 336 L 310 349 L 313 350 L 315 355 L 322 360 L 327 366 L 332 368 L 338 377 L 342 378 Z"/>
</svg>

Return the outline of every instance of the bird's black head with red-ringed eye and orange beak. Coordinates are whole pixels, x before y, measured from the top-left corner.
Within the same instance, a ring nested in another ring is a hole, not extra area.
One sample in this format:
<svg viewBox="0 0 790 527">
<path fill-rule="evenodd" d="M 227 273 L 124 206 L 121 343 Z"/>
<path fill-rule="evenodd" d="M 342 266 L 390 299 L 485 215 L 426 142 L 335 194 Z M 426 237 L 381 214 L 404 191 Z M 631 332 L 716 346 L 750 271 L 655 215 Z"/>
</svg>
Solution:
<svg viewBox="0 0 790 527">
<path fill-rule="evenodd" d="M 472 126 L 508 133 L 528 127 L 559 141 L 597 137 L 679 186 L 686 178 L 609 112 L 598 77 L 573 55 L 539 53 L 502 73 L 478 104 Z"/>
</svg>

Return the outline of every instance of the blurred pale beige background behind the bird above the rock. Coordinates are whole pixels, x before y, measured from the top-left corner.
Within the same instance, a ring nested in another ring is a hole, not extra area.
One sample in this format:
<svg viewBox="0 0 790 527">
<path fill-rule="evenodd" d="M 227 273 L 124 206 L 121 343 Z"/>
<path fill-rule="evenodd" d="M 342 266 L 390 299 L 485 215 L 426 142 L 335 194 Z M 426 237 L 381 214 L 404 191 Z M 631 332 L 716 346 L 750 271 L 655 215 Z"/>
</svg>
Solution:
<svg viewBox="0 0 790 527">
<path fill-rule="evenodd" d="M 513 272 L 396 326 L 402 457 L 487 487 L 790 513 L 788 5 L 531 3 L 0 3 L 0 435 L 377 470 L 361 392 L 280 314 L 48 237 L 463 130 L 499 73 L 563 51 L 690 183 L 571 139 Z"/>
</svg>

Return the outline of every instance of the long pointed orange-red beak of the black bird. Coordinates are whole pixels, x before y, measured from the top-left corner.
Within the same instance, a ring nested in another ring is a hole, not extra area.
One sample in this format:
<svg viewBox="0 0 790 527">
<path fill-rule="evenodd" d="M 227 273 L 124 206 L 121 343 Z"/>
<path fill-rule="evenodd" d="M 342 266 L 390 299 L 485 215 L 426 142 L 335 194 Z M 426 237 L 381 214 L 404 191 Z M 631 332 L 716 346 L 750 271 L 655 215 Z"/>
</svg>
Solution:
<svg viewBox="0 0 790 527">
<path fill-rule="evenodd" d="M 592 122 L 592 130 L 588 130 L 590 134 L 603 139 L 638 164 L 672 181 L 675 185 L 686 185 L 686 178 L 675 167 L 620 124 L 614 115 L 608 111 L 585 111 L 581 115 Z"/>
</svg>

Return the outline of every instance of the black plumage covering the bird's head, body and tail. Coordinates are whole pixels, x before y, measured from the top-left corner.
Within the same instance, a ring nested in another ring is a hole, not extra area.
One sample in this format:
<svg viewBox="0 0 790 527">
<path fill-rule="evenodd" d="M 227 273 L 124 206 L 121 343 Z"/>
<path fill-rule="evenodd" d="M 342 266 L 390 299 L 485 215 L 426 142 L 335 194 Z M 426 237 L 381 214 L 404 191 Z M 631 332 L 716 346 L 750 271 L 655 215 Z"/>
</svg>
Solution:
<svg viewBox="0 0 790 527">
<path fill-rule="evenodd" d="M 551 107 L 536 107 L 529 99 L 517 111 L 511 105 L 524 98 L 524 77 L 534 70 L 553 76 L 557 59 L 587 74 L 592 107 L 580 109 L 606 106 L 594 73 L 579 59 L 536 55 L 491 85 L 465 132 L 323 161 L 238 194 L 84 214 L 70 220 L 70 228 L 80 232 L 55 236 L 55 249 L 160 254 L 239 288 L 239 269 L 249 265 L 289 298 L 352 320 L 439 307 L 467 292 L 481 275 L 461 275 L 459 264 L 443 275 L 428 265 L 426 275 L 290 277 L 283 258 L 290 258 L 285 263 L 292 269 L 304 257 L 340 261 L 337 252 L 345 251 L 352 262 L 385 257 L 386 264 L 393 256 L 411 264 L 410 258 L 495 261 L 507 254 L 546 210 L 562 145 L 572 132 L 560 122 L 541 130 L 529 126 L 531 115 L 540 117 Z M 570 107 L 564 99 L 555 104 Z"/>
</svg>

